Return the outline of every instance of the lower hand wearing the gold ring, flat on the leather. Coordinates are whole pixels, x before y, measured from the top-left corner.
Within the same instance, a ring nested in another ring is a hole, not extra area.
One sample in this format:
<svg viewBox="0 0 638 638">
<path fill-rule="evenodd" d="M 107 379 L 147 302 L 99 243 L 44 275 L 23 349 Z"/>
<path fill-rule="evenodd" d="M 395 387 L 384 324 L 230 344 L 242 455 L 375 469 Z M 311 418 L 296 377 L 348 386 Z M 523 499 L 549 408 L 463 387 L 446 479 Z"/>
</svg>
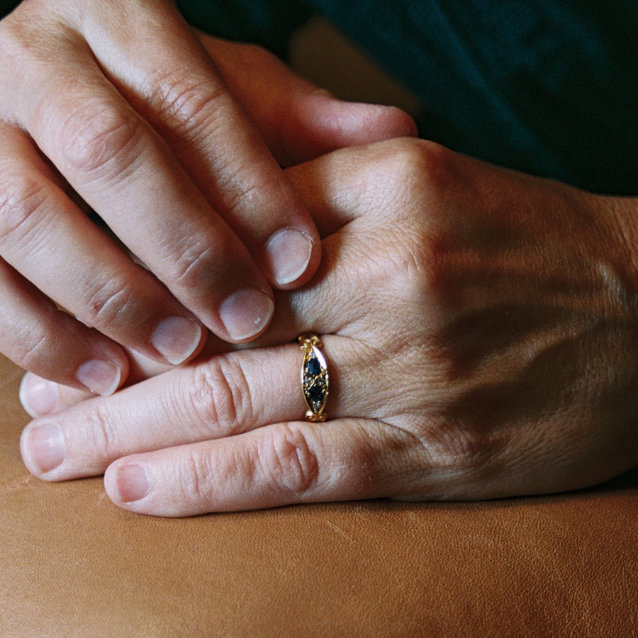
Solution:
<svg viewBox="0 0 638 638">
<path fill-rule="evenodd" d="M 33 474 L 106 470 L 118 505 L 181 516 L 548 493 L 637 463 L 629 209 L 419 140 L 287 174 L 323 262 L 278 294 L 259 348 L 35 420 Z M 302 354 L 286 342 L 305 331 L 329 362 L 325 423 L 300 420 Z"/>
</svg>

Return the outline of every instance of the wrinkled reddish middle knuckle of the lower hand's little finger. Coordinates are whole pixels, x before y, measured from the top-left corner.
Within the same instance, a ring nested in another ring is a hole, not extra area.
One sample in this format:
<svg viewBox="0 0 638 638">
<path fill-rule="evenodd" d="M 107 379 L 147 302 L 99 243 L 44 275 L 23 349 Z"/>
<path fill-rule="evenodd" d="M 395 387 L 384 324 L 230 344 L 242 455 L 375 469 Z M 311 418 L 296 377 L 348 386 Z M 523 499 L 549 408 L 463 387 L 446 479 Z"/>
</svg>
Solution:
<svg viewBox="0 0 638 638">
<path fill-rule="evenodd" d="M 264 430 L 257 459 L 269 486 L 286 501 L 303 500 L 319 481 L 317 455 L 293 424 Z"/>
</svg>

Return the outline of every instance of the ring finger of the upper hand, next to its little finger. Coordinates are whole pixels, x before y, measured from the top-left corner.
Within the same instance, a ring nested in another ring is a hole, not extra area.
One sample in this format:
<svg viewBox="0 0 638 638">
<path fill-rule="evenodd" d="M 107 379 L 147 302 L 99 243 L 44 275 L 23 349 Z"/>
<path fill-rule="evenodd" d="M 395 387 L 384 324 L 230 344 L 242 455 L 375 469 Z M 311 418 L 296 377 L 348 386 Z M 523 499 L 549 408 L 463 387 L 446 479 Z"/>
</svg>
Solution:
<svg viewBox="0 0 638 638">
<path fill-rule="evenodd" d="M 194 316 L 77 208 L 24 133 L 2 124 L 0 133 L 0 254 L 6 262 L 113 340 L 164 363 L 191 357 L 205 338 Z M 78 330 L 75 326 L 74 333 Z M 106 347 L 106 339 L 88 328 L 83 342 L 89 343 L 89 334 Z M 73 339 L 62 334 L 60 324 L 56 351 L 76 349 Z M 47 376 L 53 366 L 53 359 L 45 364 L 38 357 L 28 369 Z"/>
</svg>

